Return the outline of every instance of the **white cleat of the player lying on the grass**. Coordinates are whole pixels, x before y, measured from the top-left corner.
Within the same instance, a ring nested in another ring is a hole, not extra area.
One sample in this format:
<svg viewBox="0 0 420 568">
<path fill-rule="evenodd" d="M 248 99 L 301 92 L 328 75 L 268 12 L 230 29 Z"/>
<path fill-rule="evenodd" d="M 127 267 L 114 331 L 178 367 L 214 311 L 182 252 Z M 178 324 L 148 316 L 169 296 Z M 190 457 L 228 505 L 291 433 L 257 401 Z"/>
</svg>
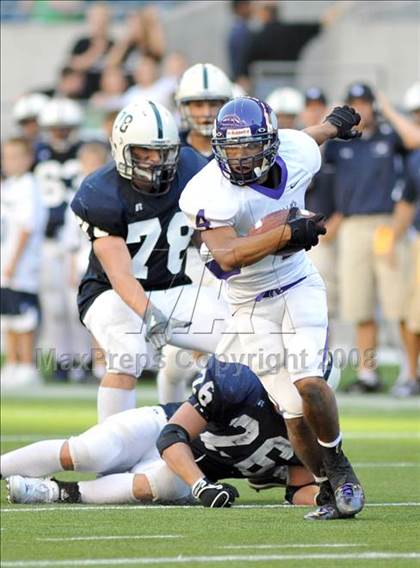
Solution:
<svg viewBox="0 0 420 568">
<path fill-rule="evenodd" d="M 59 499 L 57 483 L 50 479 L 12 475 L 7 479 L 10 503 L 54 503 Z"/>
</svg>

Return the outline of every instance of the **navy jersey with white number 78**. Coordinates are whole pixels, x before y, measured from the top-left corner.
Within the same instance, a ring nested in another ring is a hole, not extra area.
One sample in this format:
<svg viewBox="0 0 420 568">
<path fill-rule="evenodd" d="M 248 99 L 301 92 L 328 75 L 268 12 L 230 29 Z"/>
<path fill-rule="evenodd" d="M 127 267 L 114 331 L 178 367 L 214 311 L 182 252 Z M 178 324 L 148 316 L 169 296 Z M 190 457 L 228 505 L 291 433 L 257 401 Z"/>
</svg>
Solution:
<svg viewBox="0 0 420 568">
<path fill-rule="evenodd" d="M 192 230 L 178 201 L 185 185 L 205 164 L 194 150 L 181 149 L 170 190 L 156 196 L 136 191 L 111 162 L 83 181 L 71 208 L 91 241 L 109 235 L 126 241 L 134 276 L 146 291 L 189 284 L 185 251 Z M 111 287 L 92 248 L 79 288 L 82 320 L 95 298 Z"/>
</svg>

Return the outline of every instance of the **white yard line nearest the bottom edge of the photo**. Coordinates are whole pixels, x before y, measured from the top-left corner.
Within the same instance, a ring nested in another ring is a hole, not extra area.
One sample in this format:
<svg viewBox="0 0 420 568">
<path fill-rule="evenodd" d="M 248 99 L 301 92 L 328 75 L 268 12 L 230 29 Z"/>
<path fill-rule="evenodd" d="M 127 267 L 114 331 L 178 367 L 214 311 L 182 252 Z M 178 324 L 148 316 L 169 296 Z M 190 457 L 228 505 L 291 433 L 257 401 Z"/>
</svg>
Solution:
<svg viewBox="0 0 420 568">
<path fill-rule="evenodd" d="M 210 564 L 212 562 L 268 562 L 274 560 L 415 560 L 417 552 L 354 552 L 324 554 L 267 554 L 229 556 L 166 556 L 161 558 L 91 558 L 88 560 L 10 560 L 4 568 L 48 568 L 50 566 L 124 566 L 150 564 Z"/>
</svg>

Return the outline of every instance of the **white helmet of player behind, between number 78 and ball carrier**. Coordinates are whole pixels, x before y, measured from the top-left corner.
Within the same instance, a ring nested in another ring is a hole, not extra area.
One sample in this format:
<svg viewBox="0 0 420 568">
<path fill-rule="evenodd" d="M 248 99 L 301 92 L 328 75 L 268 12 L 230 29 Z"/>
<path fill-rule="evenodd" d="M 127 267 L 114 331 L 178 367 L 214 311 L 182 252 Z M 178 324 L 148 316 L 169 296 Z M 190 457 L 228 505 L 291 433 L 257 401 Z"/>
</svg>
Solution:
<svg viewBox="0 0 420 568">
<path fill-rule="evenodd" d="M 211 63 L 197 63 L 182 75 L 175 100 L 187 128 L 211 136 L 217 112 L 232 96 L 232 83 L 221 69 Z M 190 112 L 191 101 L 215 101 L 220 105 L 213 113 L 200 116 L 199 122 Z"/>
</svg>

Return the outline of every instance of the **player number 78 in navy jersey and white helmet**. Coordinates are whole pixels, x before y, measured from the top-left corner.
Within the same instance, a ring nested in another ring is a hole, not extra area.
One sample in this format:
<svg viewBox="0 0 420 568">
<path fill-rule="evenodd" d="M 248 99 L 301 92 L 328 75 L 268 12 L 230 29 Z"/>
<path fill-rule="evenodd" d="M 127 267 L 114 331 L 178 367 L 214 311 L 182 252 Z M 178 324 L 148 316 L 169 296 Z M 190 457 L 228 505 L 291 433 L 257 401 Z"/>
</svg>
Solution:
<svg viewBox="0 0 420 568">
<path fill-rule="evenodd" d="M 178 201 L 205 159 L 180 150 L 170 112 L 146 100 L 118 114 L 111 146 L 115 163 L 88 176 L 71 204 L 92 241 L 78 304 L 107 358 L 99 421 L 135 407 L 136 378 L 167 342 L 213 352 L 228 314 L 184 270 L 192 230 Z"/>
</svg>

